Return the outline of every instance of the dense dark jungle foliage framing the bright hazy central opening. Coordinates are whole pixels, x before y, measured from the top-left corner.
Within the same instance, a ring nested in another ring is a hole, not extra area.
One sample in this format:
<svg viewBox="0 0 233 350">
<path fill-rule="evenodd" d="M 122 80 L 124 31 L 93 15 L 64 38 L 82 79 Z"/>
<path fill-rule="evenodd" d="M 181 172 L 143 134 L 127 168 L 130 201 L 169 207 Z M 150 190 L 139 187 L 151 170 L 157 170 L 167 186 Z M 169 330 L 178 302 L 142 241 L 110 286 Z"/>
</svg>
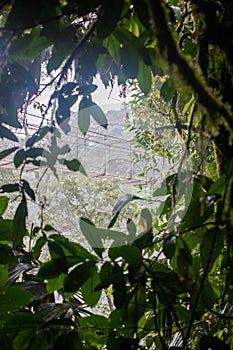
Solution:
<svg viewBox="0 0 233 350">
<path fill-rule="evenodd" d="M 6 0 L 0 11 L 0 137 L 7 140 L 0 159 L 19 170 L 1 186 L 1 348 L 233 349 L 232 1 Z M 92 100 L 97 74 L 106 87 L 117 80 L 122 96 L 137 82 L 134 102 L 156 108 L 144 116 L 148 129 L 134 125 L 147 153 L 161 152 L 158 139 L 167 135 L 158 131 L 158 113 L 185 152 L 154 188 L 159 210 L 143 208 L 125 232 L 114 224 L 133 196 L 115 208 L 111 228 L 84 215 L 84 247 L 46 222 L 38 193 L 59 164 L 85 175 L 60 141 L 76 103 L 84 135 L 91 118 L 108 127 Z M 30 106 L 41 123 L 24 142 L 18 133 L 27 130 Z M 35 186 L 25 176 L 32 168 L 42 169 Z M 32 205 L 39 223 L 29 225 Z M 107 307 L 98 314 L 103 294 Z"/>
</svg>

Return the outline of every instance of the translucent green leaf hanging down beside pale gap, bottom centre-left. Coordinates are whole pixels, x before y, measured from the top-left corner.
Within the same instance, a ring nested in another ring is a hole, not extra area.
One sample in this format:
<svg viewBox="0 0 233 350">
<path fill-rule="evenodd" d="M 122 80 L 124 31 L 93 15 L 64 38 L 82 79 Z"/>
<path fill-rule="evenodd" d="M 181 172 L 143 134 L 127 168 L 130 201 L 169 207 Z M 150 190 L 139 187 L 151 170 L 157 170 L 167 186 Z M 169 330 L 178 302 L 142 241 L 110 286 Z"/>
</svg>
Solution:
<svg viewBox="0 0 233 350">
<path fill-rule="evenodd" d="M 95 290 L 95 288 L 99 283 L 100 283 L 99 273 L 96 266 L 94 265 L 92 269 L 91 277 L 81 287 L 83 300 L 90 307 L 94 307 L 98 303 L 101 297 L 102 291 Z"/>
</svg>

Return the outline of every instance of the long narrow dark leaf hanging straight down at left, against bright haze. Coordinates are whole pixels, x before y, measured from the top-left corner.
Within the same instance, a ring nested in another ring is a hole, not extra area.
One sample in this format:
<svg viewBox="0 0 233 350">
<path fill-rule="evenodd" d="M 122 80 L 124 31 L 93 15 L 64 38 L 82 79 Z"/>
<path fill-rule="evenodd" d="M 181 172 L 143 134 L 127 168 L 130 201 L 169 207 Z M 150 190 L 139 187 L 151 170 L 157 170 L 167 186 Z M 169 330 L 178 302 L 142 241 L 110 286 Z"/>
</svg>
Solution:
<svg viewBox="0 0 233 350">
<path fill-rule="evenodd" d="M 23 197 L 16 209 L 13 223 L 12 223 L 12 237 L 13 237 L 13 243 L 15 245 L 22 246 L 23 244 L 23 237 L 27 232 L 27 228 L 26 228 L 27 215 L 28 215 L 27 202 L 26 202 L 26 198 Z"/>
</svg>

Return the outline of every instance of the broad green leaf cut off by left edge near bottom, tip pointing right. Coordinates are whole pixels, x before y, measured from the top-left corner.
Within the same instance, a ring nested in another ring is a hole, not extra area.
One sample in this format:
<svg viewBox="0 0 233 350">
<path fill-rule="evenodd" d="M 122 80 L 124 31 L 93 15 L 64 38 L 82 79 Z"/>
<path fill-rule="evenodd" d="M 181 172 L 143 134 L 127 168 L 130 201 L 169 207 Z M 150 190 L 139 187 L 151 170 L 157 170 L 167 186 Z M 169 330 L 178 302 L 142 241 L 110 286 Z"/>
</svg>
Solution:
<svg viewBox="0 0 233 350">
<path fill-rule="evenodd" d="M 2 289 L 0 291 L 0 314 L 20 310 L 29 304 L 31 298 L 31 293 L 17 287 Z"/>
</svg>

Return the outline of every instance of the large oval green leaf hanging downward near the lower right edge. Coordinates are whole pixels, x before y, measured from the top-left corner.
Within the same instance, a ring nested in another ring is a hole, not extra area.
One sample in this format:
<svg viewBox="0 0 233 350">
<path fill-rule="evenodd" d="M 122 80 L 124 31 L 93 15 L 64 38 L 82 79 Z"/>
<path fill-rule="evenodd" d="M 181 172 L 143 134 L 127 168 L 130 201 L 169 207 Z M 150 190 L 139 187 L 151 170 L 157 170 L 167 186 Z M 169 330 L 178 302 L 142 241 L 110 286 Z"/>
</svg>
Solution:
<svg viewBox="0 0 233 350">
<path fill-rule="evenodd" d="M 220 255 L 224 247 L 224 233 L 221 229 L 216 231 L 216 228 L 208 230 L 203 237 L 200 246 L 200 257 L 203 269 L 210 271 L 215 260 Z M 207 266 L 208 264 L 208 266 Z"/>
</svg>

